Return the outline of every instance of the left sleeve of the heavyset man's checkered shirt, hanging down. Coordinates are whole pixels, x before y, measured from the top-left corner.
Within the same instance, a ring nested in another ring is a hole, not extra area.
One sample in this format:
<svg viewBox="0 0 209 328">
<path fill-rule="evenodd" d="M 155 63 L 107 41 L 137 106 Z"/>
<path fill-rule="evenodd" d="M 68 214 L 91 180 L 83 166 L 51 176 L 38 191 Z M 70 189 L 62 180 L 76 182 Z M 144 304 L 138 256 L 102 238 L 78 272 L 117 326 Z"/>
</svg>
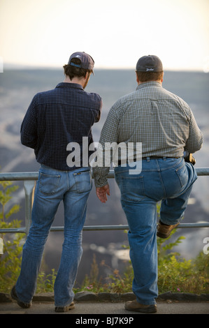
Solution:
<svg viewBox="0 0 209 328">
<path fill-rule="evenodd" d="M 114 107 L 110 109 L 105 124 L 101 131 L 99 147 L 96 151 L 96 163 L 94 163 L 93 174 L 96 187 L 108 184 L 108 172 L 113 161 L 113 153 L 118 139 L 118 117 Z"/>
</svg>

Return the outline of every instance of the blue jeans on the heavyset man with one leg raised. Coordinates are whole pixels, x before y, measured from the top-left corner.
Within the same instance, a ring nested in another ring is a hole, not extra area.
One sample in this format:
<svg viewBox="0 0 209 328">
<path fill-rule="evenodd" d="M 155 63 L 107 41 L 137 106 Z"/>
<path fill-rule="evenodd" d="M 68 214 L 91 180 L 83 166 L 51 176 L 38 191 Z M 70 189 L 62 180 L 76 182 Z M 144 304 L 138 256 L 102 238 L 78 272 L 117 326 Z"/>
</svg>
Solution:
<svg viewBox="0 0 209 328">
<path fill-rule="evenodd" d="M 183 158 L 147 158 L 140 174 L 131 175 L 130 169 L 129 165 L 115 167 L 115 180 L 129 224 L 132 288 L 140 304 L 156 304 L 157 202 L 161 200 L 161 222 L 180 222 L 197 176 L 193 165 Z"/>
</svg>

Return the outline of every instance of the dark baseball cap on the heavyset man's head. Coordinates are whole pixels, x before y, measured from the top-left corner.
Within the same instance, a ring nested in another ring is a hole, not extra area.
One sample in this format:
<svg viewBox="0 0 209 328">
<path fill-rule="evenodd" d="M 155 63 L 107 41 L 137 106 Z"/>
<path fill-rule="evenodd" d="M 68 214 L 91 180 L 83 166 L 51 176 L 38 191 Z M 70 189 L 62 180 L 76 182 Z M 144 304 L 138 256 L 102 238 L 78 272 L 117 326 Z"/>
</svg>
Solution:
<svg viewBox="0 0 209 328">
<path fill-rule="evenodd" d="M 136 70 L 139 72 L 161 72 L 164 68 L 159 57 L 149 54 L 138 59 Z"/>
</svg>

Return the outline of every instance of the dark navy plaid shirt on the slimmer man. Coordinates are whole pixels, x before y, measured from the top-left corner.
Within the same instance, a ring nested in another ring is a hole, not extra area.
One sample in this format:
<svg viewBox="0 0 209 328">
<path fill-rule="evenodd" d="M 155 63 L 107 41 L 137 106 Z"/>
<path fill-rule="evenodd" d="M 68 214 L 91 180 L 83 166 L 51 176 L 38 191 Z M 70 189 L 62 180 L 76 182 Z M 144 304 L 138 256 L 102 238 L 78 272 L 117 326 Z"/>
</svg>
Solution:
<svg viewBox="0 0 209 328">
<path fill-rule="evenodd" d="M 55 89 L 36 94 L 21 126 L 21 142 L 34 149 L 36 161 L 56 170 L 69 167 L 66 150 L 70 142 L 80 144 L 82 167 L 82 137 L 93 142 L 92 125 L 101 115 L 101 97 L 89 94 L 80 84 L 62 82 Z M 89 151 L 89 156 L 93 151 Z"/>
</svg>

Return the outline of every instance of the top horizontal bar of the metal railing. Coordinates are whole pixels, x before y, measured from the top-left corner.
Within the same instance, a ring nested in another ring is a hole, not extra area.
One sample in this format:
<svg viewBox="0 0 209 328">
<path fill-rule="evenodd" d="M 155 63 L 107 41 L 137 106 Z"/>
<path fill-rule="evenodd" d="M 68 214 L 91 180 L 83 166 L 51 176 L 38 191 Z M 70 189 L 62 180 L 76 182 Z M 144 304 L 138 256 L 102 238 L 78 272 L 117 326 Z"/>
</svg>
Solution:
<svg viewBox="0 0 209 328">
<path fill-rule="evenodd" d="M 196 167 L 199 176 L 209 175 L 209 167 Z M 94 179 L 94 174 L 92 174 Z M 108 178 L 114 178 L 114 170 L 110 170 Z M 38 172 L 1 172 L 0 181 L 38 180 Z"/>
</svg>

